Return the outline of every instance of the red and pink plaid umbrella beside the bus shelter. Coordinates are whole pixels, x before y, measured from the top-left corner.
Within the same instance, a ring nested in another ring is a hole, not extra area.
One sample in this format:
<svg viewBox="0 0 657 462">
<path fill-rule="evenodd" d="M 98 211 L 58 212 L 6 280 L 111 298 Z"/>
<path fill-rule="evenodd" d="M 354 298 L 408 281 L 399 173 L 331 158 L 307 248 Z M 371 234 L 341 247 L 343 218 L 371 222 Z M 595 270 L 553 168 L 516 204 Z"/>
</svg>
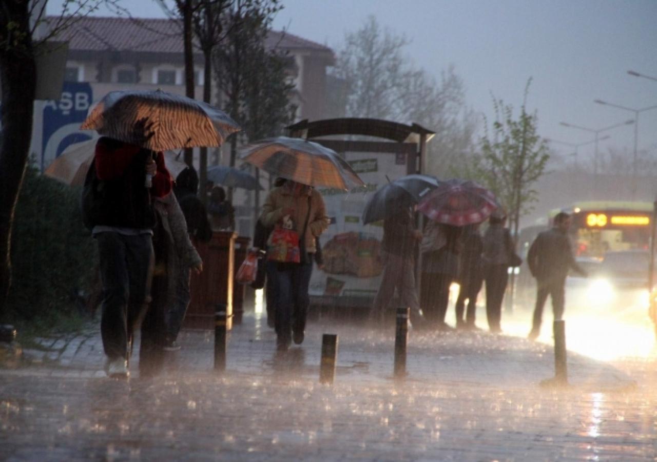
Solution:
<svg viewBox="0 0 657 462">
<path fill-rule="evenodd" d="M 418 204 L 433 221 L 453 226 L 480 223 L 497 207 L 495 194 L 474 181 L 458 179 L 440 182 Z"/>
</svg>

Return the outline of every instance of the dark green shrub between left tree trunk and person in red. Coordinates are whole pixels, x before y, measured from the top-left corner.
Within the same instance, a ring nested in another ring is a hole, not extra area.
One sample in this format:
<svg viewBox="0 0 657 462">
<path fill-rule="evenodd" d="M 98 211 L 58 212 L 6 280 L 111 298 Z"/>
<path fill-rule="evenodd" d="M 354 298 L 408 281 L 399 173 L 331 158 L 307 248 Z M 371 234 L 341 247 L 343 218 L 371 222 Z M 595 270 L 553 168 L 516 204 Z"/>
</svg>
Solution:
<svg viewBox="0 0 657 462">
<path fill-rule="evenodd" d="M 62 327 L 83 312 L 97 251 L 79 210 L 80 188 L 28 167 L 12 232 L 9 310 L 19 324 Z M 57 324 L 57 325 L 55 325 Z"/>
</svg>

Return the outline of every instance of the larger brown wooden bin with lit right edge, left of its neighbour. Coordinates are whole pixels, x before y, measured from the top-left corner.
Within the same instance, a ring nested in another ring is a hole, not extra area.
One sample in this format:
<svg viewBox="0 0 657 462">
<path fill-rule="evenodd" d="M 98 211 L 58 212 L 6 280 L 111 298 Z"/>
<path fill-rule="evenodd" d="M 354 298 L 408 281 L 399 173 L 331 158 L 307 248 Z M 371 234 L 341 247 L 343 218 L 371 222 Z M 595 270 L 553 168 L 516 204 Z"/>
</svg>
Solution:
<svg viewBox="0 0 657 462">
<path fill-rule="evenodd" d="M 210 242 L 194 242 L 198 255 L 203 260 L 203 272 L 192 274 L 192 299 L 183 327 L 214 329 L 215 306 L 217 303 L 223 303 L 226 305 L 226 328 L 231 329 L 236 269 L 235 238 L 237 234 L 233 231 L 214 231 Z"/>
</svg>

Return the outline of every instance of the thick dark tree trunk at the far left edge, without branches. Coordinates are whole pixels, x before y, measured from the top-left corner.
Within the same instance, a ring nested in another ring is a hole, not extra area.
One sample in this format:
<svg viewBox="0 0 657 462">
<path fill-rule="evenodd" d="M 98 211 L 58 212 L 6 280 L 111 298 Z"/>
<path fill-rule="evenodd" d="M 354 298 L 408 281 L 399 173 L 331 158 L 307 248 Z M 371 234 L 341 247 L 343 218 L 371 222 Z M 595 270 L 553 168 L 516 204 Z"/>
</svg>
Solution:
<svg viewBox="0 0 657 462">
<path fill-rule="evenodd" d="M 2 135 L 0 137 L 0 320 L 11 287 L 11 231 L 32 138 L 36 65 L 28 24 L 28 2 L 5 2 L 0 27 L 18 24 L 18 43 L 0 49 Z M 4 23 L 4 24 L 1 24 Z M 44 238 L 46 238 L 44 236 Z"/>
</svg>

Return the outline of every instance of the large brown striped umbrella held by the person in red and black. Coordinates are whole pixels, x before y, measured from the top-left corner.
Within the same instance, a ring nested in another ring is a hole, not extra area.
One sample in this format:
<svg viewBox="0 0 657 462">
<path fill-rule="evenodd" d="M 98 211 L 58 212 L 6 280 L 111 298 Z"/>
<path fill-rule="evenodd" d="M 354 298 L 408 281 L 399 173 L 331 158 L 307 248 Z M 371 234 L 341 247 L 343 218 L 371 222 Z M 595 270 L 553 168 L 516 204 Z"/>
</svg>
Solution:
<svg viewBox="0 0 657 462">
<path fill-rule="evenodd" d="M 240 131 L 210 104 L 161 90 L 110 91 L 80 128 L 154 151 L 221 146 Z"/>
</svg>

